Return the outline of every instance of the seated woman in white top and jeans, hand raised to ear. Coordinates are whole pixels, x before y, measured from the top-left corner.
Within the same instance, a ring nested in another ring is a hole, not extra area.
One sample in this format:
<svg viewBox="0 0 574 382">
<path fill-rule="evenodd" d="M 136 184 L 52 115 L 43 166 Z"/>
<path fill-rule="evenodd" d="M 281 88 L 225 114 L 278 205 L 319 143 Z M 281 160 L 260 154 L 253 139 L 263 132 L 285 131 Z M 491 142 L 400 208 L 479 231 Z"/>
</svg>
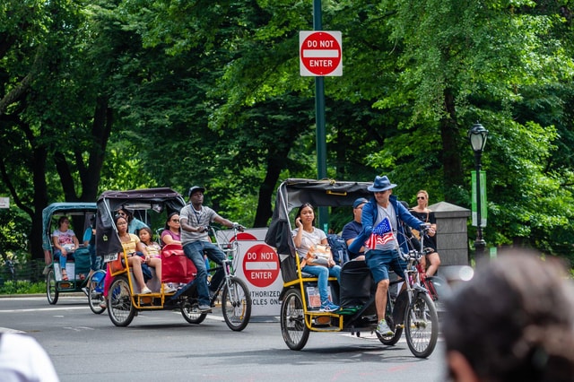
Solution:
<svg viewBox="0 0 574 382">
<path fill-rule="evenodd" d="M 297 228 L 292 231 L 293 241 L 299 256 L 301 256 L 301 264 L 304 264 L 302 271 L 313 274 L 318 278 L 317 287 L 321 298 L 321 310 L 330 312 L 337 310 L 339 307 L 328 299 L 328 278 L 329 276 L 335 276 L 337 279 L 340 279 L 341 267 L 335 265 L 333 255 L 327 260 L 326 265 L 308 263 L 306 257 L 309 250 L 314 250 L 317 245 L 327 245 L 325 232 L 315 228 L 314 223 L 315 211 L 313 206 L 309 203 L 301 205 L 295 217 Z"/>
</svg>

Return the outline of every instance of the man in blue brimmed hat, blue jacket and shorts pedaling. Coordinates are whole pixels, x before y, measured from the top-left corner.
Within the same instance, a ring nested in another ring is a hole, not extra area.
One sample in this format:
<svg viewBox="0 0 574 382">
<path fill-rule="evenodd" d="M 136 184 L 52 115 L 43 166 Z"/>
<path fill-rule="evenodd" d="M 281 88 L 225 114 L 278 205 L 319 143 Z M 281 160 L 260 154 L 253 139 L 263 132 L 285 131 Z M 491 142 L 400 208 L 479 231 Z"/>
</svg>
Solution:
<svg viewBox="0 0 574 382">
<path fill-rule="evenodd" d="M 399 257 L 399 250 L 408 252 L 404 237 L 404 221 L 416 230 L 425 230 L 424 222 L 416 219 L 400 204 L 393 194 L 396 184 L 391 183 L 387 176 L 376 177 L 373 185 L 367 189 L 374 193 L 362 208 L 361 235 L 349 247 L 350 252 L 358 252 L 365 247 L 365 261 L 377 283 L 375 305 L 377 307 L 378 325 L 376 331 L 381 335 L 391 335 L 393 331 L 385 321 L 387 310 L 388 268 L 398 275 L 404 274 L 406 265 Z"/>
</svg>

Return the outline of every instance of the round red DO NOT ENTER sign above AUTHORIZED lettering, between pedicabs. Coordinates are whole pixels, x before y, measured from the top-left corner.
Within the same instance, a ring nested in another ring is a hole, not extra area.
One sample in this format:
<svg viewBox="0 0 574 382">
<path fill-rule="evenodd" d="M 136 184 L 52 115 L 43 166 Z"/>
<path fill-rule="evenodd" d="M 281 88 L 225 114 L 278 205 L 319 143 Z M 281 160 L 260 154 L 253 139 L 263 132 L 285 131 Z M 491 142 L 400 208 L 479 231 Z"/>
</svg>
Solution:
<svg viewBox="0 0 574 382">
<path fill-rule="evenodd" d="M 248 282 L 259 288 L 273 284 L 279 270 L 279 256 L 266 244 L 250 247 L 243 256 L 243 274 Z"/>
</svg>

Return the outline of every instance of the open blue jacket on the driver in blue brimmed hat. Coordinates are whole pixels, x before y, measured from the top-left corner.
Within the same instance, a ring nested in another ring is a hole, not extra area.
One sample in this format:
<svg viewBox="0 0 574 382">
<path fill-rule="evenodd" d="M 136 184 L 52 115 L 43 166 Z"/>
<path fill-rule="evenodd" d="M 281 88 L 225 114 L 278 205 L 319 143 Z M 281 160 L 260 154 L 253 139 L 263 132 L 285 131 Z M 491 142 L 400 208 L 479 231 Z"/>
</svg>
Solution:
<svg viewBox="0 0 574 382">
<path fill-rule="evenodd" d="M 409 251 L 409 247 L 404 236 L 404 229 L 401 221 L 404 221 L 415 230 L 421 230 L 422 226 L 424 226 L 424 222 L 418 220 L 411 213 L 409 213 L 409 211 L 404 208 L 403 204 L 398 203 L 395 195 L 390 195 L 388 201 L 393 205 L 393 208 L 395 208 L 396 219 L 398 220 L 398 227 L 394 227 L 397 230 L 396 239 L 398 240 L 398 245 L 401 247 L 404 253 L 407 253 Z M 370 199 L 369 203 L 362 207 L 362 232 L 359 236 L 357 236 L 357 239 L 351 243 L 351 246 L 349 246 L 349 251 L 352 253 L 359 253 L 359 250 L 365 244 L 365 241 L 370 238 L 370 234 L 372 233 L 375 226 L 375 221 L 377 221 L 377 215 L 377 200 L 373 197 Z"/>
</svg>

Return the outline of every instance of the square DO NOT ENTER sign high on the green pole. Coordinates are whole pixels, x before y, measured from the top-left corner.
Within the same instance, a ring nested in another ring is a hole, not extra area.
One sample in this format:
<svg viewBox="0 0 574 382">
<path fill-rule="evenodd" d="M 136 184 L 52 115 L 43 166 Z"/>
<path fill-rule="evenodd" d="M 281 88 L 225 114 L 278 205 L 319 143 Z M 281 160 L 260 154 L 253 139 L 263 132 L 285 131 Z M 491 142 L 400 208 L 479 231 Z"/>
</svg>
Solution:
<svg viewBox="0 0 574 382">
<path fill-rule="evenodd" d="M 343 75 L 341 31 L 300 30 L 300 75 Z"/>
</svg>

